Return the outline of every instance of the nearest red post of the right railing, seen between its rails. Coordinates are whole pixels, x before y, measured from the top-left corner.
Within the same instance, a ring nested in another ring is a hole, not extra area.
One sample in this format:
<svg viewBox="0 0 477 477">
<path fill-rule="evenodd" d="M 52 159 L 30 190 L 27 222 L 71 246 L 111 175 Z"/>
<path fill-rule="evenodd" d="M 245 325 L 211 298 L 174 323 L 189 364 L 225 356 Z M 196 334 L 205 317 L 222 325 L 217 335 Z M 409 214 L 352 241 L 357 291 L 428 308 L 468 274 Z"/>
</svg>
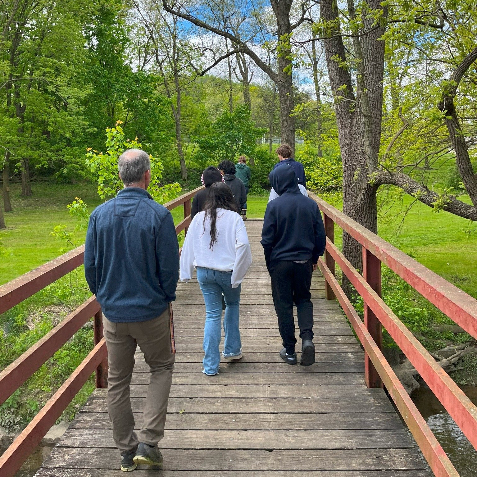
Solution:
<svg viewBox="0 0 477 477">
<path fill-rule="evenodd" d="M 381 296 L 381 260 L 375 257 L 365 247 L 363 247 L 363 278 L 369 283 L 371 288 Z M 364 303 L 364 324 L 374 342 L 378 345 L 379 349 L 382 350 L 383 326 L 366 303 Z M 364 374 L 366 386 L 369 388 L 383 387 L 383 382 L 367 353 L 364 353 Z"/>
</svg>

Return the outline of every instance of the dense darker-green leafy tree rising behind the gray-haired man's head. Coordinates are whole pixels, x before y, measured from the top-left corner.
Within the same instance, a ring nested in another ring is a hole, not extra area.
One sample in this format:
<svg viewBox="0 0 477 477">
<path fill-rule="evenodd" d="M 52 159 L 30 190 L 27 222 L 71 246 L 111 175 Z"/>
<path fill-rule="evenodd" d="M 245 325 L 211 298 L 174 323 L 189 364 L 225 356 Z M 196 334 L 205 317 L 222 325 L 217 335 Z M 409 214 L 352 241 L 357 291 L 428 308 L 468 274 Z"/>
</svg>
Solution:
<svg viewBox="0 0 477 477">
<path fill-rule="evenodd" d="M 100 0 L 87 27 L 86 74 L 92 83 L 86 100 L 92 128 L 87 142 L 100 149 L 102 131 L 122 121 L 126 135 L 137 137 L 148 151 L 162 155 L 173 137 L 170 101 L 159 92 L 158 75 L 144 68 L 133 71 L 129 57 L 133 28 L 127 15 L 124 1 Z"/>
</svg>

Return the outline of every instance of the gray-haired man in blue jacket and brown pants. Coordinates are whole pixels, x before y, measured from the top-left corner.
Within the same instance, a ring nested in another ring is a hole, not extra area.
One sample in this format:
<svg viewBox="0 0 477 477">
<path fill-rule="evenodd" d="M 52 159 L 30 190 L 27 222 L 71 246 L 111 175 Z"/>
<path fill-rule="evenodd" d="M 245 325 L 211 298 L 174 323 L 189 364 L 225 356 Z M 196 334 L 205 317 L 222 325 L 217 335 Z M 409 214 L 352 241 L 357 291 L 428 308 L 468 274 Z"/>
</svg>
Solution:
<svg viewBox="0 0 477 477">
<path fill-rule="evenodd" d="M 108 412 L 121 470 L 162 465 L 157 443 L 164 436 L 175 361 L 171 302 L 179 278 L 179 246 L 171 213 L 147 192 L 149 156 L 139 149 L 118 160 L 124 183 L 114 199 L 91 214 L 84 273 L 103 311 L 108 349 Z M 129 398 L 136 345 L 151 380 L 138 435 Z"/>
</svg>

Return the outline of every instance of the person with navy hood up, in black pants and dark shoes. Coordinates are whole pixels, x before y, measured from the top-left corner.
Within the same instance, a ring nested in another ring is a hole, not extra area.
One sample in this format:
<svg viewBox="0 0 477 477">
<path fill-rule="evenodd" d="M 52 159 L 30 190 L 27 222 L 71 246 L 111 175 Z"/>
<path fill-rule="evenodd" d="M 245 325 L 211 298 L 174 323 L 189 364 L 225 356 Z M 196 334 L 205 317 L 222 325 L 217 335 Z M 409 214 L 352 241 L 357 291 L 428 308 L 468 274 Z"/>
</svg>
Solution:
<svg viewBox="0 0 477 477">
<path fill-rule="evenodd" d="M 323 220 L 316 202 L 301 194 L 293 167 L 283 164 L 271 171 L 269 179 L 279 197 L 267 205 L 260 243 L 283 340 L 280 357 L 288 364 L 297 363 L 295 303 L 302 341 L 300 364 L 308 366 L 315 362 L 310 287 L 311 274 L 326 244 Z"/>
</svg>

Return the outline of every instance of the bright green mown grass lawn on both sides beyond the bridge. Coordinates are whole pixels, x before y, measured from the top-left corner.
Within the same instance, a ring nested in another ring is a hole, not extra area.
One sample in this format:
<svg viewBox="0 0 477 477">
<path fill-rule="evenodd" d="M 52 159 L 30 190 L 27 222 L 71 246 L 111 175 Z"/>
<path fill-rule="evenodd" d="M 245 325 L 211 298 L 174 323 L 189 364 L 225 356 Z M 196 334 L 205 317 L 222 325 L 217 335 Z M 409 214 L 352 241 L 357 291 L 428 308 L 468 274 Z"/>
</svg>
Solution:
<svg viewBox="0 0 477 477">
<path fill-rule="evenodd" d="M 66 205 L 81 197 L 92 210 L 101 203 L 92 184 L 57 185 L 34 183 L 33 197 L 20 197 L 20 187 L 11 187 L 13 212 L 5 214 L 7 230 L 0 231 L 4 247 L 11 254 L 0 260 L 0 284 L 54 259 L 61 249 L 68 247 L 54 239 L 51 232 L 58 224 L 67 224 L 73 230 L 76 220 L 70 217 Z M 249 196 L 249 218 L 261 218 L 268 197 Z M 477 297 L 477 234 L 470 236 L 463 229 L 468 221 L 447 212 L 436 214 L 429 207 L 417 203 L 405 215 L 400 214 L 410 203 L 393 204 L 381 211 L 379 234 L 406 253 L 412 253 L 426 267 L 434 270 L 467 293 Z M 339 206 L 339 204 L 338 204 Z M 183 218 L 183 208 L 173 210 L 176 223 Z M 78 243 L 84 240 L 78 233 Z M 336 230 L 340 243 L 340 230 Z"/>
</svg>

